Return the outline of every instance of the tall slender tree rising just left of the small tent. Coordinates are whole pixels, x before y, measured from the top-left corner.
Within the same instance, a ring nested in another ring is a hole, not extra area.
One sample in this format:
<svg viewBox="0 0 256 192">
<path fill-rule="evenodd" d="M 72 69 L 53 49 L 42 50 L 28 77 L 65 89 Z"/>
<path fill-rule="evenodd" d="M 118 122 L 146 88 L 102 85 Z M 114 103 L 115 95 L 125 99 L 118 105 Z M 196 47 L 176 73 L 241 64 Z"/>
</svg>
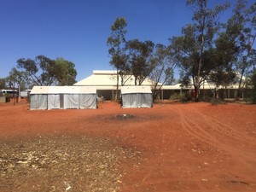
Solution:
<svg viewBox="0 0 256 192">
<path fill-rule="evenodd" d="M 124 17 L 117 18 L 113 26 L 111 26 L 111 36 L 108 38 L 108 53 L 111 55 L 110 65 L 113 66 L 116 71 L 117 88 L 115 100 L 118 99 L 119 90 L 119 77 L 121 79 L 121 84 L 125 84 L 125 75 L 129 71 L 127 65 L 127 55 L 125 55 L 125 34 L 127 22 Z"/>
</svg>

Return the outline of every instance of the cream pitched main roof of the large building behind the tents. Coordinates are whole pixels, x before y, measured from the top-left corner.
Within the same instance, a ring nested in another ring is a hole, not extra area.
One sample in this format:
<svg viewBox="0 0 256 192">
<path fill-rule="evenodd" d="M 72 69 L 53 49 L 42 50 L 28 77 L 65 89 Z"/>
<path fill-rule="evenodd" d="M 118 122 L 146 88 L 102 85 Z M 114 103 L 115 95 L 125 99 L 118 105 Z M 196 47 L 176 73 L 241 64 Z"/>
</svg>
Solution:
<svg viewBox="0 0 256 192">
<path fill-rule="evenodd" d="M 117 75 L 116 71 L 100 71 L 95 70 L 93 74 L 88 78 L 85 78 L 73 85 L 87 85 L 87 86 L 116 86 Z M 143 85 L 152 85 L 154 81 L 151 79 L 145 79 Z M 121 85 L 121 79 L 119 78 L 119 85 Z M 132 75 L 125 76 L 125 85 L 135 85 L 134 77 Z"/>
</svg>

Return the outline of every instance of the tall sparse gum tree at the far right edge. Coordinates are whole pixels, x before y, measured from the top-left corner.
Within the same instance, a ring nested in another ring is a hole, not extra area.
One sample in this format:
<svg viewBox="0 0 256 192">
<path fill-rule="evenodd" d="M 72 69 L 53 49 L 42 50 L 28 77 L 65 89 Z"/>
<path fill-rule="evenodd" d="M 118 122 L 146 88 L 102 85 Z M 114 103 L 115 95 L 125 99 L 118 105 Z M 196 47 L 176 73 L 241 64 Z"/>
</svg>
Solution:
<svg viewBox="0 0 256 192">
<path fill-rule="evenodd" d="M 244 75 L 255 65 L 256 50 L 253 44 L 256 38 L 256 3 L 247 6 L 247 1 L 238 0 L 233 15 L 226 24 L 225 38 L 231 43 L 233 60 L 237 72 L 241 74 L 239 89 Z M 229 52 L 230 52 L 229 51 Z M 228 55 L 226 55 L 228 57 Z"/>
</svg>

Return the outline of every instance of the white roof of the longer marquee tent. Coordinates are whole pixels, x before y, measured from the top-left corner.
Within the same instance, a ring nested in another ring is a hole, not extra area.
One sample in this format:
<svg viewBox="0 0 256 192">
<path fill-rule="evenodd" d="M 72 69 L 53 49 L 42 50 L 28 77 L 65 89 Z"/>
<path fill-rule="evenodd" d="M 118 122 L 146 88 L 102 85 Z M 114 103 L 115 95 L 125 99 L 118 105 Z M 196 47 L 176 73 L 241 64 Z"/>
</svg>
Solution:
<svg viewBox="0 0 256 192">
<path fill-rule="evenodd" d="M 34 86 L 30 94 L 96 94 L 95 87 L 84 86 Z"/>
</svg>

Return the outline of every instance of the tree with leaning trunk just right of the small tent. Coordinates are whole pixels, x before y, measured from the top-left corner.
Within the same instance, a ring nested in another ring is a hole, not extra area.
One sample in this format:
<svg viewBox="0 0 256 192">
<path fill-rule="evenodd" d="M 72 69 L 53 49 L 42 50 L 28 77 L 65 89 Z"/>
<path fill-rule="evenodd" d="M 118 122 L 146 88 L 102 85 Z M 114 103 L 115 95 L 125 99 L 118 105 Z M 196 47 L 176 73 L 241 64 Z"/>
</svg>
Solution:
<svg viewBox="0 0 256 192">
<path fill-rule="evenodd" d="M 174 80 L 173 70 L 176 64 L 172 60 L 172 55 L 163 44 L 156 44 L 154 51 L 154 67 L 150 73 L 150 78 L 154 80 L 153 87 L 153 101 L 159 95 L 161 87 L 168 82 L 172 83 Z M 159 84 L 159 83 L 162 84 Z"/>
</svg>

